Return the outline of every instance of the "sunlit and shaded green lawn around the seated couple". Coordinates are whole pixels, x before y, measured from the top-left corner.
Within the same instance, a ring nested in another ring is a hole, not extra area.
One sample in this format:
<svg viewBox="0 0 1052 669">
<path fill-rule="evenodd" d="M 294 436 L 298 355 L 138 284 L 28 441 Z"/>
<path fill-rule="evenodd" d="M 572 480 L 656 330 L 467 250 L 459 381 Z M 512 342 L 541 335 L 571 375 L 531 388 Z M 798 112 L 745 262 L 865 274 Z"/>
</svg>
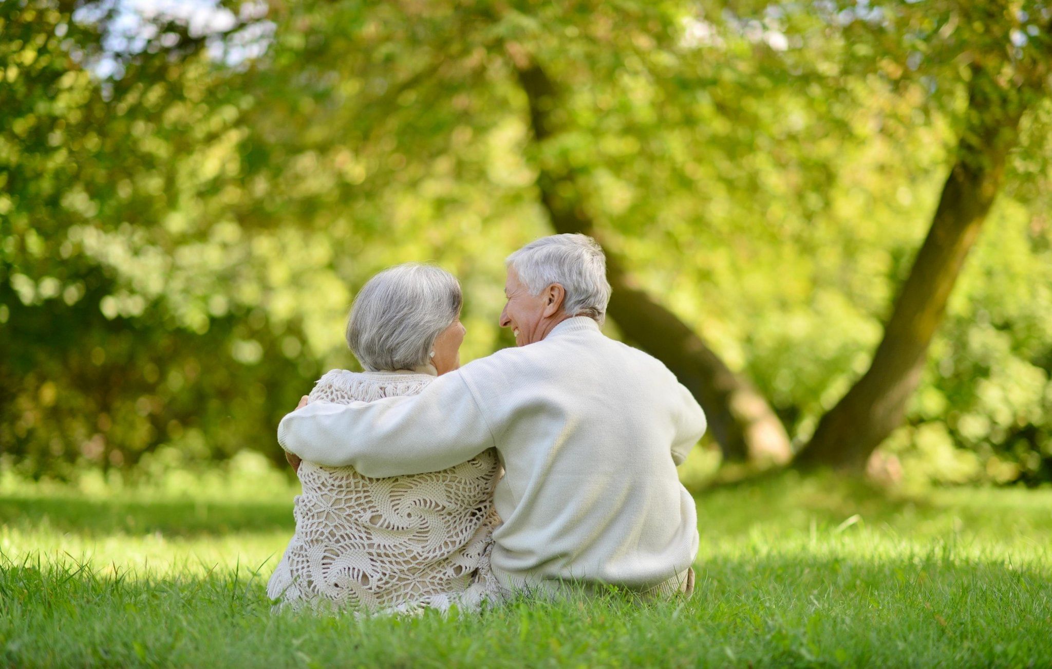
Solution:
<svg viewBox="0 0 1052 669">
<path fill-rule="evenodd" d="M 786 474 L 697 494 L 687 602 L 271 615 L 294 490 L 0 486 L 4 665 L 1052 664 L 1052 490 Z"/>
</svg>

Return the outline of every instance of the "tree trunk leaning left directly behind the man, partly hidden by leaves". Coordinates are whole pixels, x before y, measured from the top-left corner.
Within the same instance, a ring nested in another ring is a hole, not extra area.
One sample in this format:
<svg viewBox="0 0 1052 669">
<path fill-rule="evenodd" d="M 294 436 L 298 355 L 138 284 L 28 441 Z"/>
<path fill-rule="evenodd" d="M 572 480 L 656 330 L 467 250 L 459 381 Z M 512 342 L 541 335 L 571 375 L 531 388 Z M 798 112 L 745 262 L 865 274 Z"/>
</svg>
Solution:
<svg viewBox="0 0 1052 669">
<path fill-rule="evenodd" d="M 555 87 L 521 47 L 507 46 L 529 102 L 533 138 L 544 142 L 557 131 L 551 119 Z M 557 232 L 596 237 L 572 171 L 542 164 L 537 185 Z M 731 371 L 690 327 L 647 295 L 609 252 L 607 277 L 613 288 L 610 317 L 627 339 L 665 363 L 690 389 L 705 409 L 724 460 L 787 462 L 792 451 L 785 427 L 752 384 Z"/>
</svg>

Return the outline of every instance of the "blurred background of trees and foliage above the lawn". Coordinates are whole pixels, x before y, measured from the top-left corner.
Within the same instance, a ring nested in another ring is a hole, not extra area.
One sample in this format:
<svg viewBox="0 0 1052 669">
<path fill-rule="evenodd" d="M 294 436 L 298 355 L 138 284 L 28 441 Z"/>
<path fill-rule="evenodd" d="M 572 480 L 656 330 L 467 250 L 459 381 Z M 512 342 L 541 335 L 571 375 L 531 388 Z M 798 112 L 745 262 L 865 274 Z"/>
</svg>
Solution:
<svg viewBox="0 0 1052 669">
<path fill-rule="evenodd" d="M 593 235 L 770 464 L 1052 481 L 1047 2 L 0 3 L 0 470 L 280 464 L 379 269 Z"/>
</svg>

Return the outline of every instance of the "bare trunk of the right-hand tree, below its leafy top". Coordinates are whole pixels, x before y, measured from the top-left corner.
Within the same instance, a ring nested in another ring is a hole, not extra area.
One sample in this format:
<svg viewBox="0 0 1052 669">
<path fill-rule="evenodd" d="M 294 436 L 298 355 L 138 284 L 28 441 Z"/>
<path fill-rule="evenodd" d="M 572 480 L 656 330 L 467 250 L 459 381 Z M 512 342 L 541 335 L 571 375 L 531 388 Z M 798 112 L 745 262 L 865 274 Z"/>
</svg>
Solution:
<svg viewBox="0 0 1052 669">
<path fill-rule="evenodd" d="M 869 370 L 818 422 L 797 466 L 861 470 L 902 424 L 950 291 L 1000 188 L 1021 113 L 1017 92 L 974 68 L 956 161 L 884 339 Z"/>
</svg>

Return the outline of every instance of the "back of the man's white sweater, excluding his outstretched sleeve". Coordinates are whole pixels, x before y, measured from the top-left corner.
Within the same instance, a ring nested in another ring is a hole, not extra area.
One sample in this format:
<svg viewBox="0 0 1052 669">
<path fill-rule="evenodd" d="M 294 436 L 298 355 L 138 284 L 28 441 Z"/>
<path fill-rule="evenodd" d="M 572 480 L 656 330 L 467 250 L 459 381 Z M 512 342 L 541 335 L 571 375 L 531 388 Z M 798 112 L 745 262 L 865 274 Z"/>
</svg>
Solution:
<svg viewBox="0 0 1052 669">
<path fill-rule="evenodd" d="M 646 588 L 690 567 L 694 502 L 671 449 L 685 457 L 705 418 L 664 365 L 576 318 L 461 373 L 504 460 L 492 563 L 505 585 Z"/>
</svg>

